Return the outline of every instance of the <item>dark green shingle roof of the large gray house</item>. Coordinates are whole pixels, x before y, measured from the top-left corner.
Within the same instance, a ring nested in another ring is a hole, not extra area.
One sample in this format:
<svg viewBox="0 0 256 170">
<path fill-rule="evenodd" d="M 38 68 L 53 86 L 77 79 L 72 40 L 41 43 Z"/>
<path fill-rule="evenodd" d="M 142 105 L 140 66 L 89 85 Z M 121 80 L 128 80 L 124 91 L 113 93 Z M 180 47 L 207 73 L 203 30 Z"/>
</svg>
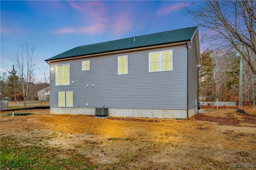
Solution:
<svg viewBox="0 0 256 170">
<path fill-rule="evenodd" d="M 190 27 L 190 28 L 183 28 L 179 30 L 148 34 L 144 36 L 125 38 L 121 40 L 83 45 L 83 46 L 70 49 L 64 53 L 61 53 L 49 59 L 46 59 L 45 61 L 50 61 L 54 59 L 64 59 L 69 57 L 77 57 L 82 55 L 104 53 L 104 52 L 111 52 L 111 51 L 119 51 L 124 49 L 133 49 L 138 47 L 148 47 L 152 45 L 186 42 L 192 39 L 196 29 L 197 27 Z M 134 42 L 134 39 L 135 39 L 135 42 Z"/>
</svg>

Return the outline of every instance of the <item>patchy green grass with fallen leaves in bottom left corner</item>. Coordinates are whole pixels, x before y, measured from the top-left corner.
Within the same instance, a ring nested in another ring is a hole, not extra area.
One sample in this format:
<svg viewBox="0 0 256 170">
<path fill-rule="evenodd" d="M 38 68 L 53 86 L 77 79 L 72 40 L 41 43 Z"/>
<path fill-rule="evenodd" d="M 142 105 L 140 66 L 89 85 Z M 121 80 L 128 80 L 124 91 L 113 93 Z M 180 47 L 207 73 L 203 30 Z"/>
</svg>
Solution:
<svg viewBox="0 0 256 170">
<path fill-rule="evenodd" d="M 1 137 L 0 169 L 94 169 L 90 158 L 79 154 L 76 150 L 64 150 L 49 146 L 23 145 L 29 138 L 15 136 Z M 61 155 L 66 155 L 65 158 Z"/>
</svg>

